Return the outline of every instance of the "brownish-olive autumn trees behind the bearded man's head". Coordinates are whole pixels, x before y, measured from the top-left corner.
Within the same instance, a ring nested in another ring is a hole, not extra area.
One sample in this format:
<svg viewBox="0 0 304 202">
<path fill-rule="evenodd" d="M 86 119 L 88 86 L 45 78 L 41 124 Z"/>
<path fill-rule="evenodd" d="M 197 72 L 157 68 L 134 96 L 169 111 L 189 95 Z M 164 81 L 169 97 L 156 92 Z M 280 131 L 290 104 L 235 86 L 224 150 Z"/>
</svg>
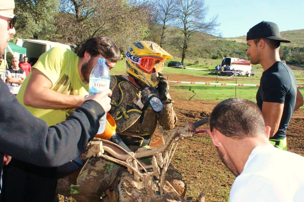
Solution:
<svg viewBox="0 0 304 202">
<path fill-rule="evenodd" d="M 148 35 L 149 5 L 145 2 L 112 0 L 60 0 L 56 19 L 57 40 L 76 45 L 103 35 L 125 50 Z"/>
</svg>

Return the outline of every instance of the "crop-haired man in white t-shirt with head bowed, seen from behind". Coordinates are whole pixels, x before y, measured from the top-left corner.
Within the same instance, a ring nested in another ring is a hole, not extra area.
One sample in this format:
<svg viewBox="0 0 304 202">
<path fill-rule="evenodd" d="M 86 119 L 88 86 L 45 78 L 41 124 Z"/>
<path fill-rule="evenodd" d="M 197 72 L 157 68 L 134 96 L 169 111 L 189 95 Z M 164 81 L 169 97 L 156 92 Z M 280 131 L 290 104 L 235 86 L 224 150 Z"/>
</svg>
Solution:
<svg viewBox="0 0 304 202">
<path fill-rule="evenodd" d="M 210 115 L 208 133 L 237 177 L 230 202 L 304 201 L 304 157 L 269 143 L 270 127 L 264 126 L 256 104 L 241 98 L 222 101 Z"/>
</svg>

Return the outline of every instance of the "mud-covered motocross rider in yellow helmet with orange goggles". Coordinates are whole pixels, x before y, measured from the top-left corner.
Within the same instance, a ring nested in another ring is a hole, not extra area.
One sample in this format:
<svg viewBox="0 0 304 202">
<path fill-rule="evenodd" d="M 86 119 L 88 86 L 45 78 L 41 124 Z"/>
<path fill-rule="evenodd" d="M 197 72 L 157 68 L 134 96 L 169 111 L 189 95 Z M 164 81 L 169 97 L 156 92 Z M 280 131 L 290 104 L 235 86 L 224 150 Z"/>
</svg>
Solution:
<svg viewBox="0 0 304 202">
<path fill-rule="evenodd" d="M 116 121 L 116 133 L 132 151 L 140 147 L 149 148 L 151 137 L 158 123 L 171 130 L 176 124 L 171 96 L 168 93 L 168 81 L 160 73 L 164 60 L 172 56 L 159 45 L 150 41 L 136 42 L 126 52 L 126 72 L 128 76 L 111 76 L 112 90 L 109 113 Z M 154 111 L 149 100 L 157 97 L 163 103 L 163 109 Z M 150 158 L 143 159 L 147 162 Z M 91 157 L 81 170 L 77 183 L 72 184 L 71 196 L 75 201 L 99 201 L 113 190 L 116 177 L 126 169 L 120 164 L 101 157 Z M 182 196 L 186 186 L 181 175 L 169 167 L 166 180 Z M 112 194 L 111 194 L 112 195 Z"/>
</svg>

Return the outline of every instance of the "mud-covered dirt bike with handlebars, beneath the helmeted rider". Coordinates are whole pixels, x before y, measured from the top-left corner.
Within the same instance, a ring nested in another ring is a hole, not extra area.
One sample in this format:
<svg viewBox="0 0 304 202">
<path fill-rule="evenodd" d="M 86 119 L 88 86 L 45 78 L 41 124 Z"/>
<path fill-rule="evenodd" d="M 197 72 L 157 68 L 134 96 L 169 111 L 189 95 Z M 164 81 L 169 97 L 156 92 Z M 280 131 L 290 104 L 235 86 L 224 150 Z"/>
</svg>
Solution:
<svg viewBox="0 0 304 202">
<path fill-rule="evenodd" d="M 189 201 L 178 194 L 165 176 L 178 142 L 191 138 L 196 133 L 206 132 L 206 130 L 196 131 L 196 128 L 208 122 L 209 118 L 194 123 L 189 122 L 184 127 L 177 127 L 169 133 L 159 126 L 160 131 L 167 138 L 164 145 L 159 148 L 152 147 L 152 149 L 141 147 L 135 153 L 109 140 L 94 138 L 88 143 L 81 158 L 88 159 L 97 156 L 127 168 L 117 177 L 118 183 L 114 190 L 118 190 L 118 193 L 115 196 L 108 194 L 106 201 Z M 139 160 L 142 157 L 151 157 L 152 164 L 143 164 Z M 69 185 L 76 182 L 79 172 L 80 170 L 75 171 L 58 180 L 57 194 L 66 196 L 67 201 L 67 196 L 70 194 Z M 195 201 L 205 201 L 205 190 Z"/>
</svg>

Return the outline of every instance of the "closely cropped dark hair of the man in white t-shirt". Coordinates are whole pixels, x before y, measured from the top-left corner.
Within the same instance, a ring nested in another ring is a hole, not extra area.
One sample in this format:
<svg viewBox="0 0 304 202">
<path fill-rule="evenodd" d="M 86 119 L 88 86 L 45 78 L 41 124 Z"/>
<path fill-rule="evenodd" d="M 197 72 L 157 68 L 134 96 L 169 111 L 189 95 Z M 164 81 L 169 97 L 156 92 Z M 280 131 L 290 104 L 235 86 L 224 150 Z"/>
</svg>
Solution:
<svg viewBox="0 0 304 202">
<path fill-rule="evenodd" d="M 227 137 L 243 139 L 266 135 L 261 110 L 250 100 L 229 98 L 217 104 L 210 115 L 210 129 Z"/>
</svg>

